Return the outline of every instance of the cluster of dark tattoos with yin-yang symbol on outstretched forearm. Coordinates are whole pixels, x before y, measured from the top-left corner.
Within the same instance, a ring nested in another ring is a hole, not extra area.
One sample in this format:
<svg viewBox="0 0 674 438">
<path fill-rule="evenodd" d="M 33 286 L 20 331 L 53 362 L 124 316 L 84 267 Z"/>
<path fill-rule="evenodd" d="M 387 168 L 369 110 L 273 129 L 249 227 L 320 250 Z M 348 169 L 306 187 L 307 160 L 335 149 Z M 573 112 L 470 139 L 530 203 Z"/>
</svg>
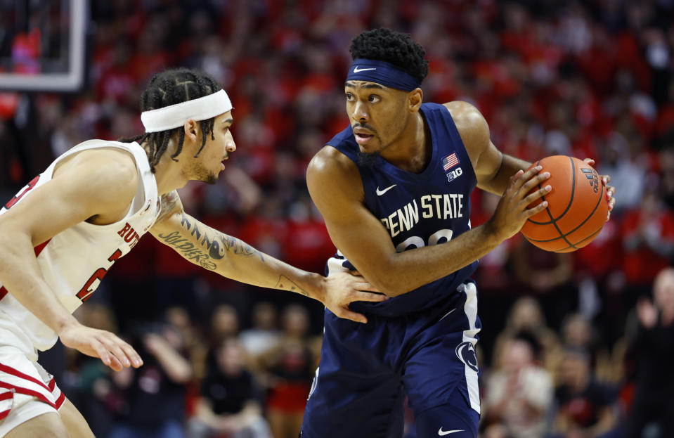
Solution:
<svg viewBox="0 0 674 438">
<path fill-rule="evenodd" d="M 216 232 L 214 236 L 210 236 L 207 230 L 200 228 L 199 225 L 199 221 L 183 214 L 181 217 L 183 232 L 172 231 L 162 233 L 157 237 L 167 245 L 174 247 L 186 259 L 209 271 L 215 271 L 218 268 L 218 263 L 225 257 L 226 252 L 243 256 L 257 255 L 264 262 L 264 255 L 247 243 L 223 233 Z M 197 245 L 192 243 L 195 239 Z"/>
</svg>

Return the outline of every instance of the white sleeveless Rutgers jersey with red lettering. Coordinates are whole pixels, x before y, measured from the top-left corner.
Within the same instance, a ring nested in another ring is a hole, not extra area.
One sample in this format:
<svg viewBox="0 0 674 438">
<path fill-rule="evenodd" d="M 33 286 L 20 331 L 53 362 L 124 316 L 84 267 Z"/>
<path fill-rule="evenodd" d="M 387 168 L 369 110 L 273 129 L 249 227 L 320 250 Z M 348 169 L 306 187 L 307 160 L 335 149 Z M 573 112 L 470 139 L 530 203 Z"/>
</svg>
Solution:
<svg viewBox="0 0 674 438">
<path fill-rule="evenodd" d="M 32 189 L 50 181 L 54 167 L 65 157 L 94 148 L 117 148 L 131 153 L 138 169 L 138 191 L 127 215 L 114 224 L 80 222 L 35 247 L 37 262 L 46 283 L 70 312 L 91 296 L 110 266 L 119 257 L 127 255 L 157 220 L 160 212 L 157 181 L 150 171 L 145 150 L 138 143 L 104 140 L 80 143 L 58 157 L 0 209 L 0 214 L 4 214 L 28 198 Z M 34 356 L 35 349 L 49 349 L 56 339 L 56 333 L 23 307 L 0 283 L 0 344 L 15 345 Z"/>
</svg>

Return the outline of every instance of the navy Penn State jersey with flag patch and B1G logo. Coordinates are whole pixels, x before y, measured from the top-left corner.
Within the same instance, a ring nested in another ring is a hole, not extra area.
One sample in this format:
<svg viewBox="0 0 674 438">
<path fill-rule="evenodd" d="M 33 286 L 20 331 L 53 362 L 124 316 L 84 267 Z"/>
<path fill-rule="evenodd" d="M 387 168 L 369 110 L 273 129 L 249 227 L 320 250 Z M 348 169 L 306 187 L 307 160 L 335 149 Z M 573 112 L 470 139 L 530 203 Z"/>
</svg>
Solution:
<svg viewBox="0 0 674 438">
<path fill-rule="evenodd" d="M 468 231 L 470 194 L 477 184 L 449 110 L 437 103 L 423 103 L 420 110 L 432 141 L 431 159 L 420 174 L 399 169 L 382 157 L 375 165 L 358 165 L 358 143 L 350 126 L 327 143 L 358 167 L 365 205 L 387 228 L 398 252 L 446 243 Z M 355 268 L 337 248 L 326 272 L 346 269 Z M 351 309 L 382 316 L 427 309 L 454 295 L 475 269 L 477 261 L 386 302 L 354 302 Z"/>
</svg>

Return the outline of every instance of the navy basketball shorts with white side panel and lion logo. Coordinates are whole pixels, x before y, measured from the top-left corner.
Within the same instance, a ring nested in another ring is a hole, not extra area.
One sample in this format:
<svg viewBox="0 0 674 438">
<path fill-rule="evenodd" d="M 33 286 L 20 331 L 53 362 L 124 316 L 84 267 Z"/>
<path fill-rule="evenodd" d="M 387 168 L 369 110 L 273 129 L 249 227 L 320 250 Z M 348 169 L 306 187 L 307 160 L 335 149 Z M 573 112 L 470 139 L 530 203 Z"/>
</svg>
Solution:
<svg viewBox="0 0 674 438">
<path fill-rule="evenodd" d="M 475 438 L 479 368 L 474 283 L 424 312 L 368 323 L 325 310 L 323 347 L 302 438 L 398 438 L 403 401 L 415 416 L 416 436 Z"/>
</svg>

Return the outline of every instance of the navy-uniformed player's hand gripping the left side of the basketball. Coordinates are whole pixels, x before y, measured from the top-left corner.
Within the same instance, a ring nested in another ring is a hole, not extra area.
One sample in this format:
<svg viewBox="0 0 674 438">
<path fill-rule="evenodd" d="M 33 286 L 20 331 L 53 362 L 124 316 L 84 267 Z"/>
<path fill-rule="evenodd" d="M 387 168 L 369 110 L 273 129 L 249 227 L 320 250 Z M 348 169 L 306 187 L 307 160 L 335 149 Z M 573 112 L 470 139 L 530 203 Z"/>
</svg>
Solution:
<svg viewBox="0 0 674 438">
<path fill-rule="evenodd" d="M 511 238 L 521 230 L 522 226 L 534 214 L 545 210 L 547 201 L 540 202 L 535 207 L 528 208 L 531 202 L 538 200 L 552 190 L 550 185 L 543 185 L 543 181 L 550 178 L 550 172 L 536 175 L 543 167 L 534 166 L 528 171 L 519 170 L 510 177 L 510 183 L 505 193 L 498 201 L 498 206 L 488 224 L 493 233 L 500 239 Z M 540 184 L 540 188 L 533 193 L 529 192 Z"/>
</svg>

